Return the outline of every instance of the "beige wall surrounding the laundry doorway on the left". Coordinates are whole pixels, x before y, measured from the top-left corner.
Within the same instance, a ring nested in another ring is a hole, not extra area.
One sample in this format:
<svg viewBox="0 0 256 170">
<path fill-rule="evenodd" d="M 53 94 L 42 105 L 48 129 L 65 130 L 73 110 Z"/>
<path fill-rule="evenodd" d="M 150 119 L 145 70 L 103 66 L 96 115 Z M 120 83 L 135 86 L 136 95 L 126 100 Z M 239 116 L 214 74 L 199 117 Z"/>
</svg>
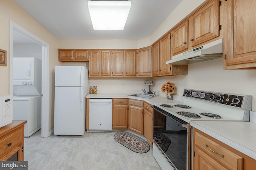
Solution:
<svg viewBox="0 0 256 170">
<path fill-rule="evenodd" d="M 12 0 L 0 0 L 0 49 L 8 51 L 8 63 L 6 67 L 0 66 L 0 95 L 9 95 L 10 91 L 10 20 L 21 26 L 34 36 L 49 44 L 49 131 L 53 128 L 53 95 L 54 94 L 54 66 L 58 62 L 57 39 L 43 28 L 36 20 L 24 12 Z"/>
</svg>

